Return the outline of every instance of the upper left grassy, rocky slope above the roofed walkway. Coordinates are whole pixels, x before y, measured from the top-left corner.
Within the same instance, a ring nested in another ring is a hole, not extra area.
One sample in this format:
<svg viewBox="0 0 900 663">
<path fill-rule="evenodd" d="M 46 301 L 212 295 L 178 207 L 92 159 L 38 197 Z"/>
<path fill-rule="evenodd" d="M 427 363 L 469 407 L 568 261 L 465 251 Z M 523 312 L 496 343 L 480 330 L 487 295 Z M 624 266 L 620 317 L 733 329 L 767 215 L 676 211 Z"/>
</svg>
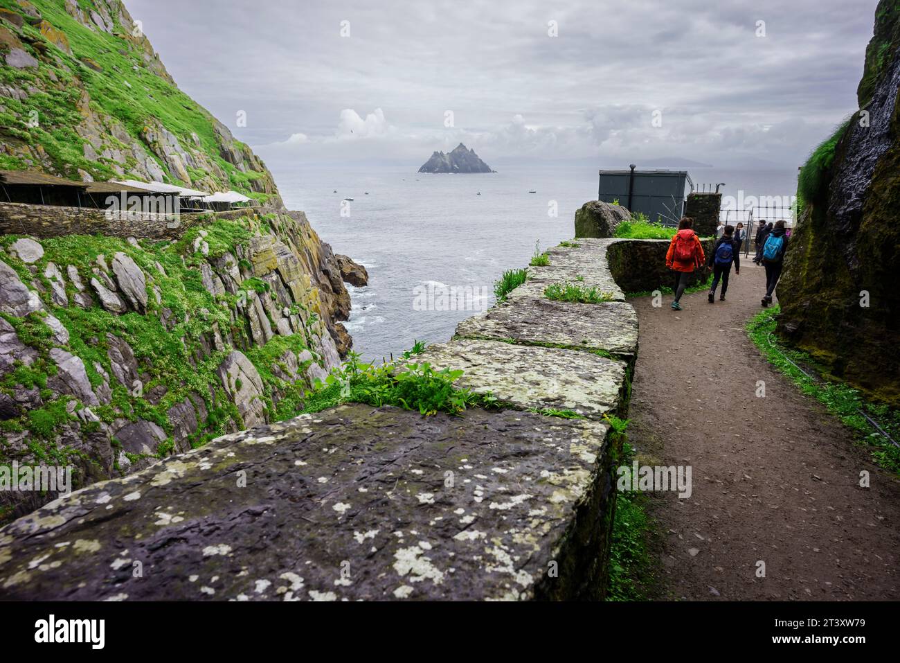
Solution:
<svg viewBox="0 0 900 663">
<path fill-rule="evenodd" d="M 281 204 L 263 162 L 178 89 L 120 0 L 0 0 L 0 62 L 0 169 Z"/>
</svg>

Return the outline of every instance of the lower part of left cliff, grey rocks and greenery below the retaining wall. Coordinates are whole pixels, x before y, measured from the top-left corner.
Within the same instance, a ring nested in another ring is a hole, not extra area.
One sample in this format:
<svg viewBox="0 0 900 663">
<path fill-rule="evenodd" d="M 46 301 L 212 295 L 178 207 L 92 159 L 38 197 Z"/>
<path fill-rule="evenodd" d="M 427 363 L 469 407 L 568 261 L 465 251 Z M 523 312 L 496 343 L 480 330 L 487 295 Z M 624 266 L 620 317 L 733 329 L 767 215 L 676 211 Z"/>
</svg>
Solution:
<svg viewBox="0 0 900 663">
<path fill-rule="evenodd" d="M 302 213 L 211 215 L 172 242 L 0 237 L 0 465 L 84 486 L 292 417 L 347 350 L 329 330 L 349 307 Z M 51 497 L 0 493 L 0 521 Z"/>
</svg>

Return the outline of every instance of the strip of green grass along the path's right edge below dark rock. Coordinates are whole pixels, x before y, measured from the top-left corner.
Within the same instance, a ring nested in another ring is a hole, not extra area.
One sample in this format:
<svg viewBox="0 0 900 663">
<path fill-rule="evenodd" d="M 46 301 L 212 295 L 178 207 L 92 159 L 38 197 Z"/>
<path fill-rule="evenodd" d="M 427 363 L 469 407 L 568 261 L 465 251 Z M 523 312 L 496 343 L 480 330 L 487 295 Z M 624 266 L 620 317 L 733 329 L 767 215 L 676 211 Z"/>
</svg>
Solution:
<svg viewBox="0 0 900 663">
<path fill-rule="evenodd" d="M 900 411 L 891 411 L 886 405 L 867 401 L 858 390 L 841 382 L 817 376 L 815 361 L 805 352 L 792 350 L 779 344 L 774 335 L 779 306 L 761 311 L 747 323 L 747 332 L 753 343 L 770 364 L 784 373 L 804 394 L 824 404 L 828 411 L 856 433 L 860 444 L 866 446 L 872 459 L 882 468 L 900 474 L 900 449 L 886 440 L 860 414 L 868 414 L 887 433 L 900 441 Z M 793 363 L 792 363 L 793 362 Z M 804 367 L 807 377 L 795 364 Z"/>
</svg>

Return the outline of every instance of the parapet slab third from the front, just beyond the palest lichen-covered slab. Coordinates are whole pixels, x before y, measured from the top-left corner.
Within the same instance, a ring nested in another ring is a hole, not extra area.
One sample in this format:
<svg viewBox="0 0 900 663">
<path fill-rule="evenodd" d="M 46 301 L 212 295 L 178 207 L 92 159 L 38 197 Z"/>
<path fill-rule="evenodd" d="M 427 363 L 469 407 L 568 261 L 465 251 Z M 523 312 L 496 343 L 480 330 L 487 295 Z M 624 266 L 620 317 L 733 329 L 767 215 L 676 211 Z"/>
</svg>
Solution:
<svg viewBox="0 0 900 663">
<path fill-rule="evenodd" d="M 634 363 L 637 313 L 624 302 L 570 304 L 523 296 L 460 322 L 456 336 L 605 351 Z"/>
</svg>

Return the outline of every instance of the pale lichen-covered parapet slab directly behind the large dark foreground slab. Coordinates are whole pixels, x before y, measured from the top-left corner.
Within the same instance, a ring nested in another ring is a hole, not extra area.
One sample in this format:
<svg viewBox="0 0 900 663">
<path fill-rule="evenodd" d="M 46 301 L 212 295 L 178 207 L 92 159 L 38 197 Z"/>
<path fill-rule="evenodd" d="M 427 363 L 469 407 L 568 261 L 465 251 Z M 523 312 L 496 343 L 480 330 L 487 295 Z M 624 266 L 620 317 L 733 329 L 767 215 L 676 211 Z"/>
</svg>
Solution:
<svg viewBox="0 0 900 663">
<path fill-rule="evenodd" d="M 417 360 L 434 368 L 461 369 L 464 375 L 456 386 L 491 392 L 514 407 L 602 417 L 623 406 L 626 363 L 590 352 L 458 340 L 430 345 Z"/>
</svg>

